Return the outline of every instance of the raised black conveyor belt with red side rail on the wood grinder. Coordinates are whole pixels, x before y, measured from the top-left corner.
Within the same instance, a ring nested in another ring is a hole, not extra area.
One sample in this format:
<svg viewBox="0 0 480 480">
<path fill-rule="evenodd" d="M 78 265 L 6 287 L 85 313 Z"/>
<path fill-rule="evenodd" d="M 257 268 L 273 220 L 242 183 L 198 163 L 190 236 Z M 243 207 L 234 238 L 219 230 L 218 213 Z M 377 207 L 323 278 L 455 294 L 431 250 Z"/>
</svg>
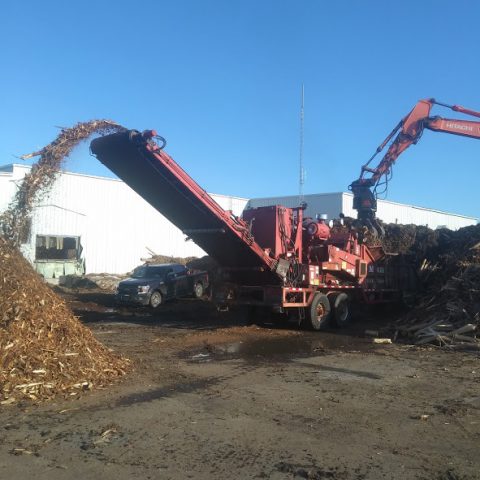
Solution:
<svg viewBox="0 0 480 480">
<path fill-rule="evenodd" d="M 254 242 L 246 224 L 136 130 L 91 142 L 94 155 L 243 284 L 279 284 L 276 260 Z"/>
</svg>

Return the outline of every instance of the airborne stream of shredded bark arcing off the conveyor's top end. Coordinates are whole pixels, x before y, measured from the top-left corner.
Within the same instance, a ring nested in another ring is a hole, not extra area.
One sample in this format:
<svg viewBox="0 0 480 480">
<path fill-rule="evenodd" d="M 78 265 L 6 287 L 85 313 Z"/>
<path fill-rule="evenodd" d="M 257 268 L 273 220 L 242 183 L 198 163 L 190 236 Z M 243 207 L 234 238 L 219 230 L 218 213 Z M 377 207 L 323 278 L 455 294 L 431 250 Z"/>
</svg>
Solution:
<svg viewBox="0 0 480 480">
<path fill-rule="evenodd" d="M 42 150 L 21 157 L 39 156 L 7 210 L 0 215 L 0 235 L 15 245 L 27 241 L 30 231 L 30 214 L 35 203 L 40 201 L 55 182 L 58 172 L 70 152 L 91 135 L 113 133 L 124 127 L 110 120 L 91 120 L 63 128 L 57 138 Z"/>
</svg>

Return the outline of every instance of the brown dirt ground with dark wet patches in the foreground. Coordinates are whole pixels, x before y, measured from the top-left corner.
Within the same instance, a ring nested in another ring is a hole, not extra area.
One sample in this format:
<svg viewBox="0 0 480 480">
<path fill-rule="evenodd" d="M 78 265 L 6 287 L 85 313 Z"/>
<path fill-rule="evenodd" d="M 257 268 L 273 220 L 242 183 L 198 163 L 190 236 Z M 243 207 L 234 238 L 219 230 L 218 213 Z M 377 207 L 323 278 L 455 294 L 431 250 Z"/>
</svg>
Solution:
<svg viewBox="0 0 480 480">
<path fill-rule="evenodd" d="M 63 294 L 121 383 L 0 410 L 0 479 L 480 479 L 479 353 Z"/>
</svg>

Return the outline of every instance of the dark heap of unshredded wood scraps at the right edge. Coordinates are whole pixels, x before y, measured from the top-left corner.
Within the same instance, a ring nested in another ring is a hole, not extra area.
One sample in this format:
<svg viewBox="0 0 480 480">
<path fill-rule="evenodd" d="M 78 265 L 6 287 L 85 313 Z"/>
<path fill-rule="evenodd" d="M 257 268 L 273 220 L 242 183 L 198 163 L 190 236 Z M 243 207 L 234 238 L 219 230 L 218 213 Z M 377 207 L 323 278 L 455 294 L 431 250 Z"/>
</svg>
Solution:
<svg viewBox="0 0 480 480">
<path fill-rule="evenodd" d="M 398 227 L 401 238 L 406 238 Z M 412 226 L 404 228 L 415 233 Z M 480 225 L 455 232 L 424 228 L 417 227 L 418 235 L 409 235 L 405 250 L 419 261 L 424 291 L 416 307 L 395 326 L 397 334 L 418 345 L 480 346 L 476 337 L 480 327 Z"/>
</svg>

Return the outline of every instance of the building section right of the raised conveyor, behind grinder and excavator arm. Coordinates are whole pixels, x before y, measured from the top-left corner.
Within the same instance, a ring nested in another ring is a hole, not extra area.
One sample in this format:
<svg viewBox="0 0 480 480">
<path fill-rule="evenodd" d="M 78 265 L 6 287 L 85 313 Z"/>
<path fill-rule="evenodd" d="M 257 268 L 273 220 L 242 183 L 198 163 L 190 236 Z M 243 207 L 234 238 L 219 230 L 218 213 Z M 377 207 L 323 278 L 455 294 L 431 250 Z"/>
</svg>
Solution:
<svg viewBox="0 0 480 480">
<path fill-rule="evenodd" d="M 353 209 L 353 195 L 351 193 L 315 193 L 304 195 L 303 201 L 307 203 L 306 215 L 311 217 L 315 217 L 317 213 L 326 213 L 328 218 L 338 218 L 339 213 L 343 213 L 347 217 L 355 218 L 357 216 Z M 275 204 L 285 207 L 298 207 L 300 197 L 292 195 L 288 197 L 253 198 L 248 201 L 247 208 Z M 425 225 L 432 229 L 447 227 L 450 230 L 475 225 L 478 220 L 465 215 L 441 212 L 388 200 L 378 200 L 377 217 L 386 223 Z"/>
</svg>

